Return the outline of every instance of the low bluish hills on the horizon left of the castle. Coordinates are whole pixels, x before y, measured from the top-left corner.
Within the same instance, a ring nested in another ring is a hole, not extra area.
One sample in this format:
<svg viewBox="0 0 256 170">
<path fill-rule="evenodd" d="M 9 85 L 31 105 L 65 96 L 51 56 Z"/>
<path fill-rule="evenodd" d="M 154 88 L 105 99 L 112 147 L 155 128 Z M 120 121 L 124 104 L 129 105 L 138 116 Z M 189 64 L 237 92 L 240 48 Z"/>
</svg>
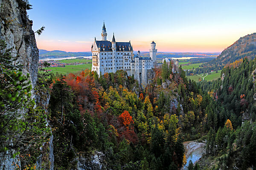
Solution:
<svg viewBox="0 0 256 170">
<path fill-rule="evenodd" d="M 39 58 L 61 58 L 61 57 L 81 57 L 81 56 L 91 56 L 91 52 L 66 52 L 66 51 L 47 51 L 39 49 Z"/>
</svg>

